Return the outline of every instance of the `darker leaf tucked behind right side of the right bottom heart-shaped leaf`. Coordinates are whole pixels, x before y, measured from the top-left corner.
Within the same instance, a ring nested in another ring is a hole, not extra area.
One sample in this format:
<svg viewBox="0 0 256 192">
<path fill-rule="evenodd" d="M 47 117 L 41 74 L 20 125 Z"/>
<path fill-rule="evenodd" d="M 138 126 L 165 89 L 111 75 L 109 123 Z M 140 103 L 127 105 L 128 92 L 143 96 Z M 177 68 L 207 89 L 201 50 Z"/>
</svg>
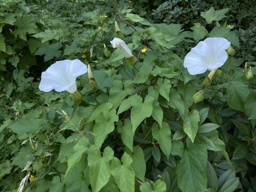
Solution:
<svg viewBox="0 0 256 192">
<path fill-rule="evenodd" d="M 135 172 L 135 176 L 141 181 L 144 181 L 146 173 L 146 161 L 143 149 L 140 146 L 134 146 L 133 152 L 129 152 L 129 155 L 132 157 L 132 167 Z"/>
</svg>

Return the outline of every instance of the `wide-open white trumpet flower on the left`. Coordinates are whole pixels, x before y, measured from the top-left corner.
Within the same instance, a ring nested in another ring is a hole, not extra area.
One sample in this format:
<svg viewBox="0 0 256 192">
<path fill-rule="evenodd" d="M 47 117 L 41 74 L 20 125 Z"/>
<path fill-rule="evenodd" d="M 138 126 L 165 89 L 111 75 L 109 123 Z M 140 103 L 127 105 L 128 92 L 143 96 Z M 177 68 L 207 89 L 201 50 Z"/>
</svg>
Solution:
<svg viewBox="0 0 256 192">
<path fill-rule="evenodd" d="M 87 66 L 78 59 L 57 61 L 42 73 L 39 90 L 74 93 L 77 91 L 76 78 L 86 72 Z"/>
</svg>

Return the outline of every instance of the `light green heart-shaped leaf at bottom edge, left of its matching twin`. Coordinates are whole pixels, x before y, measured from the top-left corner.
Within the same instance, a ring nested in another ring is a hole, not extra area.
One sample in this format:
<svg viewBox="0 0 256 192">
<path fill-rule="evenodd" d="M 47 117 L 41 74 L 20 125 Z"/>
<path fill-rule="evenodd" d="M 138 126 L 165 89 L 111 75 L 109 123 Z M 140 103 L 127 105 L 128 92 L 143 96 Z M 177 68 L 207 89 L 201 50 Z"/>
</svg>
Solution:
<svg viewBox="0 0 256 192">
<path fill-rule="evenodd" d="M 114 151 L 106 147 L 101 156 L 98 147 L 92 145 L 88 150 L 88 166 L 90 167 L 89 179 L 93 192 L 98 192 L 104 187 L 110 178 L 109 162 L 114 157 Z"/>
</svg>

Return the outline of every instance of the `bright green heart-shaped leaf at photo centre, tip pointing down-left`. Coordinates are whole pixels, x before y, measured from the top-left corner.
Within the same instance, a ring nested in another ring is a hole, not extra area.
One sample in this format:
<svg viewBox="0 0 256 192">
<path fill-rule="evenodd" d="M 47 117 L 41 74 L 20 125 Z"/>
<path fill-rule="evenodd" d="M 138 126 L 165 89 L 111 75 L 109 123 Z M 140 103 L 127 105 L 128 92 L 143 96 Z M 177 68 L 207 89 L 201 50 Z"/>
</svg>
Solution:
<svg viewBox="0 0 256 192">
<path fill-rule="evenodd" d="M 135 132 L 140 123 L 147 117 L 150 117 L 153 113 L 153 101 L 154 98 L 147 95 L 144 102 L 142 98 L 139 102 L 134 103 L 131 111 L 132 130 Z"/>
</svg>

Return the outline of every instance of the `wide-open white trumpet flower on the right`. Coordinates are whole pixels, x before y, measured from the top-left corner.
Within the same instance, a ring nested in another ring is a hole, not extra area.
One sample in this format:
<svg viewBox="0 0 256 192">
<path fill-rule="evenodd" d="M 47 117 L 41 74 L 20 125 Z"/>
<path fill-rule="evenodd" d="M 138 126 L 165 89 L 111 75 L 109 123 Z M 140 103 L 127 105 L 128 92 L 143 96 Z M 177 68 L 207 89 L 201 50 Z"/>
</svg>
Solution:
<svg viewBox="0 0 256 192">
<path fill-rule="evenodd" d="M 228 59 L 225 51 L 230 42 L 221 37 L 210 37 L 199 42 L 184 59 L 184 67 L 188 68 L 190 75 L 204 73 L 207 69 L 213 70 L 221 67 Z"/>
</svg>

